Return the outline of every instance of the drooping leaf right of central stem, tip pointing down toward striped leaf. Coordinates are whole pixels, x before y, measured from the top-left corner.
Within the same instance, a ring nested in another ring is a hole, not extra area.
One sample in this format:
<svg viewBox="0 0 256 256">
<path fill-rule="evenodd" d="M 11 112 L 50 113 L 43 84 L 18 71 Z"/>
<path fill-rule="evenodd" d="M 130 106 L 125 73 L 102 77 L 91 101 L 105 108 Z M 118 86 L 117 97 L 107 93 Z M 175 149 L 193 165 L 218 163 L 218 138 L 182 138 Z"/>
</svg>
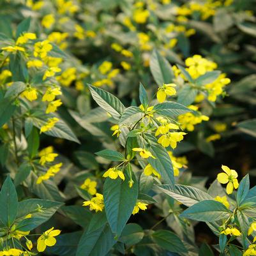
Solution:
<svg viewBox="0 0 256 256">
<path fill-rule="evenodd" d="M 174 170 L 166 149 L 154 143 L 151 144 L 150 151 L 155 159 L 147 158 L 148 162 L 161 174 L 164 183 L 174 185 Z"/>
</svg>

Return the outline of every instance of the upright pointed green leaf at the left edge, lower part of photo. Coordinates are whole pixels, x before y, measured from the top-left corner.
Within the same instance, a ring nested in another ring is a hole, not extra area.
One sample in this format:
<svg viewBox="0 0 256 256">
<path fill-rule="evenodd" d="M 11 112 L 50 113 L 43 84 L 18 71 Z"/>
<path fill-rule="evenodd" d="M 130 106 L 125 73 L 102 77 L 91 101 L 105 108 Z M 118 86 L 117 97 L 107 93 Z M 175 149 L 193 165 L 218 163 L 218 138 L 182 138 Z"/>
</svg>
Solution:
<svg viewBox="0 0 256 256">
<path fill-rule="evenodd" d="M 0 192 L 0 223 L 10 227 L 17 216 L 18 197 L 10 176 L 7 176 Z"/>
</svg>

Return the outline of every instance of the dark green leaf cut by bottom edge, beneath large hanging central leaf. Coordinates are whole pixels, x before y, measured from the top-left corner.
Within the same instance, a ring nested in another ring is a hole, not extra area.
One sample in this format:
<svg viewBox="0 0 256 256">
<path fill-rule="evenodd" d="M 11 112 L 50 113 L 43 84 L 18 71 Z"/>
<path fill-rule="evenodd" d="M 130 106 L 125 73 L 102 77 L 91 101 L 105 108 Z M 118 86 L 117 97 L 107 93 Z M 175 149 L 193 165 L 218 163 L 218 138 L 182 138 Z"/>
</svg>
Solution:
<svg viewBox="0 0 256 256">
<path fill-rule="evenodd" d="M 84 232 L 77 246 L 76 256 L 105 256 L 116 243 L 109 225 Z"/>
</svg>

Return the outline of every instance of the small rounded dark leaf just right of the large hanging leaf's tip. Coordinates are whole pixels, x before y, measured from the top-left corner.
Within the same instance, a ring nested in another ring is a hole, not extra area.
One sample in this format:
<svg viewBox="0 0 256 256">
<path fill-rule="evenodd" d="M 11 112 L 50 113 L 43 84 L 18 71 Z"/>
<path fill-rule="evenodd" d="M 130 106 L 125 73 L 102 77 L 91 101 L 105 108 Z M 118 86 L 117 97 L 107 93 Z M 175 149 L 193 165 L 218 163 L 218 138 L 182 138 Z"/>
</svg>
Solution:
<svg viewBox="0 0 256 256">
<path fill-rule="evenodd" d="M 140 225 L 129 223 L 125 225 L 119 241 L 125 243 L 126 247 L 136 245 L 144 237 L 144 231 Z"/>
</svg>

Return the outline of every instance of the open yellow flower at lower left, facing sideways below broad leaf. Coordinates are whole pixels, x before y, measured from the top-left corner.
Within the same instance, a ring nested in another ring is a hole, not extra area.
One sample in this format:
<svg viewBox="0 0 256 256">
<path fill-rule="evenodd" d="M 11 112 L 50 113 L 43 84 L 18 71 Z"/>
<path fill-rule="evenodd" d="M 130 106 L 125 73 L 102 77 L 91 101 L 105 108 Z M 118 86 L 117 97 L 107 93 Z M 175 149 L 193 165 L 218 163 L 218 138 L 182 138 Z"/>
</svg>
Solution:
<svg viewBox="0 0 256 256">
<path fill-rule="evenodd" d="M 55 236 L 59 236 L 59 234 L 61 234 L 61 230 L 54 230 L 54 227 L 43 232 L 37 241 L 38 252 L 43 252 L 46 246 L 54 246 L 56 244 Z"/>
</svg>

